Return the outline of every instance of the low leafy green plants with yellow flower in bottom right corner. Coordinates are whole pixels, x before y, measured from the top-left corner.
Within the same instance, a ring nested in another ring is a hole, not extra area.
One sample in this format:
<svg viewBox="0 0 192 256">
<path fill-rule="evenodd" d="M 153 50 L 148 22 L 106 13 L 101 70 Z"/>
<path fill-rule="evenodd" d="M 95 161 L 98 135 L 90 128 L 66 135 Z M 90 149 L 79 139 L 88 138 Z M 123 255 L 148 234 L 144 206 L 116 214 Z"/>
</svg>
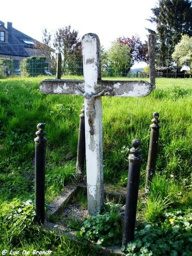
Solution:
<svg viewBox="0 0 192 256">
<path fill-rule="evenodd" d="M 135 232 L 135 239 L 121 248 L 126 256 L 192 255 L 192 209 L 173 210 L 164 216 L 163 222 L 145 223 Z"/>
</svg>

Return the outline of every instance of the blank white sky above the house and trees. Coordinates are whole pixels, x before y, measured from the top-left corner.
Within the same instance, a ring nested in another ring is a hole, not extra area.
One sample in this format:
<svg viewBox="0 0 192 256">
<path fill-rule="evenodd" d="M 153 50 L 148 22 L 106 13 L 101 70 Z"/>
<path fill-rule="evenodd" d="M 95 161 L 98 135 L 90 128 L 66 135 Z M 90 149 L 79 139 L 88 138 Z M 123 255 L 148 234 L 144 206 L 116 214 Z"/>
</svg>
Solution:
<svg viewBox="0 0 192 256">
<path fill-rule="evenodd" d="M 139 35 L 147 39 L 146 21 L 152 15 L 157 0 L 9 0 L 0 3 L 0 20 L 10 21 L 13 27 L 42 41 L 42 29 L 54 32 L 71 25 L 81 38 L 86 33 L 99 36 L 101 45 L 108 48 L 120 36 Z"/>
</svg>

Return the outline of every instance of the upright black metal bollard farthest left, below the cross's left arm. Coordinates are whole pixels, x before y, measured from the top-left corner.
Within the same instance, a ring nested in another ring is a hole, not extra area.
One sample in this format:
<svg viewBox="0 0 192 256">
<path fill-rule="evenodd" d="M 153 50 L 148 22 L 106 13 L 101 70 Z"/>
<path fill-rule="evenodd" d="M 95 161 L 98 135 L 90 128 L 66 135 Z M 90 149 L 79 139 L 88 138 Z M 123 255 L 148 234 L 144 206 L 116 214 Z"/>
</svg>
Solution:
<svg viewBox="0 0 192 256">
<path fill-rule="evenodd" d="M 35 215 L 39 224 L 45 220 L 45 124 L 37 125 L 35 141 Z"/>
</svg>

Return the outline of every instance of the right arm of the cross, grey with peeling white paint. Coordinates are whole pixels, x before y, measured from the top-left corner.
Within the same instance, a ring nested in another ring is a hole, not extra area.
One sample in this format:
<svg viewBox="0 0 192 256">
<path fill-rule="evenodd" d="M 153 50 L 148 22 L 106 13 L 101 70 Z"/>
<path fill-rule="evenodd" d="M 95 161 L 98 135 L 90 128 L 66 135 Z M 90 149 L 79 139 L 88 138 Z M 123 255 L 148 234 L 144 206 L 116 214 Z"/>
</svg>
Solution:
<svg viewBox="0 0 192 256">
<path fill-rule="evenodd" d="M 147 81 L 110 81 L 100 80 L 98 91 L 107 89 L 104 96 L 144 97 L 152 91 L 152 85 Z"/>
</svg>

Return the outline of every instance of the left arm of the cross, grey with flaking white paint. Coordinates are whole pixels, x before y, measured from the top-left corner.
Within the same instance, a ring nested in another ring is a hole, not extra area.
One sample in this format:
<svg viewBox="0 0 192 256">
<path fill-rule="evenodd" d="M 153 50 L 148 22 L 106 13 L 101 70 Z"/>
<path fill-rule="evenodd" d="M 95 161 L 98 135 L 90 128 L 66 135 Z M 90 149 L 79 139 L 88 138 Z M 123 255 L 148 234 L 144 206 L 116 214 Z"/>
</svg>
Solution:
<svg viewBox="0 0 192 256">
<path fill-rule="evenodd" d="M 41 82 L 39 89 L 46 94 L 82 95 L 84 80 L 46 79 Z"/>
</svg>

